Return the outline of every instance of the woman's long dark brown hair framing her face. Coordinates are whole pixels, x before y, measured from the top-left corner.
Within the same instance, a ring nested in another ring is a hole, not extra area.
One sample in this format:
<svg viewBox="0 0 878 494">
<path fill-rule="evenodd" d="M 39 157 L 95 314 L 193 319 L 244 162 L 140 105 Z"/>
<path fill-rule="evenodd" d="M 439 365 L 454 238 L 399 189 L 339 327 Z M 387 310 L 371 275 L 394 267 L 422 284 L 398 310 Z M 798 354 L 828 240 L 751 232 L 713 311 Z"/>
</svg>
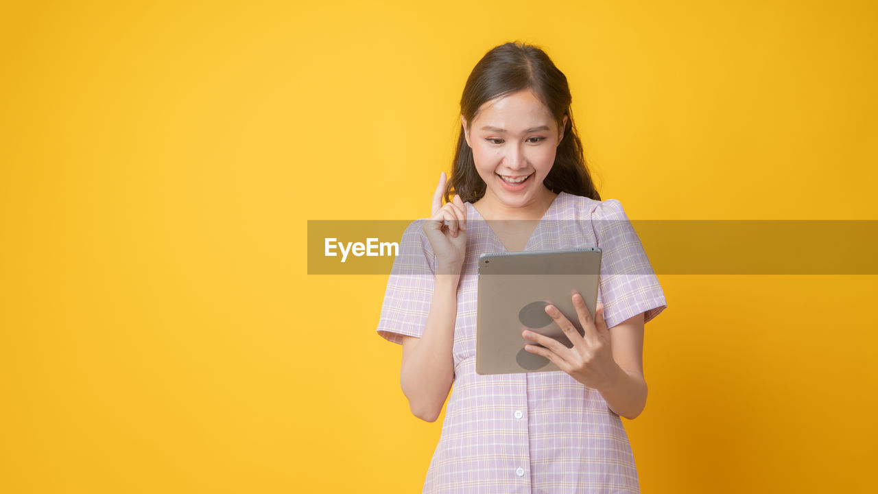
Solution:
<svg viewBox="0 0 878 494">
<path fill-rule="evenodd" d="M 558 127 L 564 125 L 564 115 L 567 115 L 567 125 L 558 144 L 555 163 L 543 185 L 553 193 L 564 191 L 601 200 L 592 183 L 582 153 L 582 142 L 573 123 L 573 114 L 570 112 L 572 97 L 567 77 L 539 47 L 509 42 L 486 53 L 466 80 L 464 95 L 460 98 L 460 114 L 464 115 L 466 125 L 471 126 L 476 112 L 486 101 L 527 89 L 534 91 L 543 105 L 549 108 Z M 485 195 L 486 188 L 485 181 L 476 171 L 472 149 L 466 143 L 461 125 L 451 176 L 445 185 L 445 200 L 450 201 L 457 193 L 464 202 L 475 202 Z"/>
</svg>

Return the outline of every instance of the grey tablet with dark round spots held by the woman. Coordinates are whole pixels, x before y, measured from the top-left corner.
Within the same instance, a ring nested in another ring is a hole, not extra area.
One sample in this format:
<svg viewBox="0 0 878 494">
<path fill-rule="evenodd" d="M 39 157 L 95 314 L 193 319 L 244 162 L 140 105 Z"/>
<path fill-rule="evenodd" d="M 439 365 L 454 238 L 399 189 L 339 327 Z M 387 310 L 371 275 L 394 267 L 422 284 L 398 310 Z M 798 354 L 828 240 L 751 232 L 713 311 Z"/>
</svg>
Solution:
<svg viewBox="0 0 878 494">
<path fill-rule="evenodd" d="M 571 348 L 570 339 L 545 313 L 549 303 L 585 334 L 574 292 L 582 294 L 594 316 L 601 248 L 565 251 L 496 252 L 479 257 L 479 306 L 476 322 L 476 373 L 514 374 L 560 371 L 551 360 L 528 352 L 536 345 L 522 337 L 524 327 Z"/>
</svg>

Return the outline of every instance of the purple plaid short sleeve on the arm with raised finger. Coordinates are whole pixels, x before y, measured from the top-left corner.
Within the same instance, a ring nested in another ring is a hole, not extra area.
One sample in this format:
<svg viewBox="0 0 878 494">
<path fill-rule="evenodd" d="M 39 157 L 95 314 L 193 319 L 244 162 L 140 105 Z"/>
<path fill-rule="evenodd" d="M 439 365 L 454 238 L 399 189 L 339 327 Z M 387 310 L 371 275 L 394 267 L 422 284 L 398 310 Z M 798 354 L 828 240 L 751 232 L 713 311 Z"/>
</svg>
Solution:
<svg viewBox="0 0 878 494">
<path fill-rule="evenodd" d="M 424 221 L 410 223 L 403 232 L 399 256 L 393 259 L 387 279 L 378 334 L 393 343 L 401 344 L 403 336 L 421 338 L 427 325 L 435 285 L 435 255 L 424 233 Z"/>
</svg>

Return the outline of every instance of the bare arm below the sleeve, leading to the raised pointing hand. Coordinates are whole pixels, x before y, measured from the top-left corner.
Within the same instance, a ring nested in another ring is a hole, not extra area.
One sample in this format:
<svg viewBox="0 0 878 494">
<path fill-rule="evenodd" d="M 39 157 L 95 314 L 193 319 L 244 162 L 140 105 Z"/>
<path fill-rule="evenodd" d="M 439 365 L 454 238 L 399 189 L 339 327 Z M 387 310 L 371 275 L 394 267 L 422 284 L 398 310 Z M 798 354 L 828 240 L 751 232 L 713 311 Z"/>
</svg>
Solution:
<svg viewBox="0 0 878 494">
<path fill-rule="evenodd" d="M 434 422 L 454 381 L 454 326 L 460 275 L 437 274 L 427 326 L 421 338 L 402 339 L 399 384 L 414 416 Z"/>
</svg>

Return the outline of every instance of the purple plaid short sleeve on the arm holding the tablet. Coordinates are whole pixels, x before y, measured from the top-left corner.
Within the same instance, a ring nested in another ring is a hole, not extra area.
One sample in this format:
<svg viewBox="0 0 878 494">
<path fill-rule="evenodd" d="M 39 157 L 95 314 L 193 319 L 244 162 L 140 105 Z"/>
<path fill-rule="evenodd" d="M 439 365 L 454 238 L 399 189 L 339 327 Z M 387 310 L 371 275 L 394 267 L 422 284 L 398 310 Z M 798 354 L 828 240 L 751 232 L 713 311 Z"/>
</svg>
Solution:
<svg viewBox="0 0 878 494">
<path fill-rule="evenodd" d="M 651 321 L 667 308 L 665 292 L 622 203 L 601 201 L 592 213 L 592 228 L 602 251 L 598 301 L 607 327 L 640 313 L 644 323 Z"/>
</svg>

